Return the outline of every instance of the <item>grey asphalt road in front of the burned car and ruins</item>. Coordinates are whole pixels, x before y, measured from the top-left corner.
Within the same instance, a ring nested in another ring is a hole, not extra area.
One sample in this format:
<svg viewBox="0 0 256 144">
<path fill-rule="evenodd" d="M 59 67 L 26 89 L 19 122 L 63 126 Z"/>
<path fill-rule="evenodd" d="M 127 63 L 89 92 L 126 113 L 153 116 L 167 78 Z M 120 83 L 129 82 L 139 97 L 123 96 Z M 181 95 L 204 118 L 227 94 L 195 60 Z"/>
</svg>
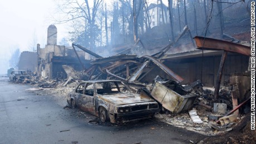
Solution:
<svg viewBox="0 0 256 144">
<path fill-rule="evenodd" d="M 0 143 L 190 143 L 205 136 L 157 120 L 90 125 L 96 117 L 0 78 Z"/>
</svg>

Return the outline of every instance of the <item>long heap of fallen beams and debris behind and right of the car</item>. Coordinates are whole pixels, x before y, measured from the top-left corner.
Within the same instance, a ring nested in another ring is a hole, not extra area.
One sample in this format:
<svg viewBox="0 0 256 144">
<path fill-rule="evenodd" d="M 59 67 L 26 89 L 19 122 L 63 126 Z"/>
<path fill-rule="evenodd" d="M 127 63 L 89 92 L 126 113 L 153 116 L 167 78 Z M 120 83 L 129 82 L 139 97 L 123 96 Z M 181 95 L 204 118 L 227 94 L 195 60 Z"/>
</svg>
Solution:
<svg viewBox="0 0 256 144">
<path fill-rule="evenodd" d="M 175 42 L 188 31 L 188 27 L 183 29 Z M 174 42 L 174 43 L 175 43 Z M 82 80 L 120 80 L 129 86 L 134 92 L 146 93 L 159 103 L 161 112 L 155 115 L 160 121 L 169 123 L 170 125 L 186 128 L 187 130 L 200 132 L 203 135 L 216 135 L 232 130 L 232 127 L 243 119 L 244 111 L 240 111 L 241 107 L 246 104 L 249 99 L 248 89 L 242 88 L 243 93 L 239 93 L 237 77 L 234 81 L 228 82 L 227 87 L 207 88 L 204 87 L 200 80 L 188 85 L 181 85 L 184 80 L 182 77 L 171 71 L 170 68 L 163 64 L 164 54 L 173 46 L 169 44 L 160 52 L 151 56 L 138 57 L 131 54 L 132 48 L 110 57 L 101 57 L 92 51 L 72 44 L 74 51 L 75 46 L 83 51 L 91 54 L 91 66 L 84 68 L 83 72 L 75 71 L 71 66 L 63 65 L 63 69 L 67 74 L 65 80 L 48 78 L 39 78 L 36 75 L 29 75 L 24 80 L 17 80 L 20 83 L 30 83 L 37 87 L 43 88 L 47 92 L 66 99 L 69 92 L 75 90 L 75 87 Z M 79 57 L 77 56 L 79 59 Z M 81 61 L 80 61 L 81 62 Z M 171 80 L 165 80 L 160 76 L 154 79 L 154 82 L 145 84 L 141 80 L 155 67 L 161 68 Z M 226 82 L 227 83 L 227 82 Z M 235 89 L 233 90 L 233 88 Z M 215 91 L 215 89 L 218 91 Z M 214 92 L 215 91 L 215 92 Z M 242 95 L 239 99 L 240 105 L 234 103 L 234 91 L 237 95 Z M 218 98 L 216 98 L 216 92 Z M 237 109 L 235 109 L 237 108 Z M 240 110 L 238 110 L 240 108 Z M 244 107 L 243 107 L 244 109 Z M 239 115 L 239 112 L 242 115 Z M 237 112 L 232 114 L 233 112 Z"/>
</svg>

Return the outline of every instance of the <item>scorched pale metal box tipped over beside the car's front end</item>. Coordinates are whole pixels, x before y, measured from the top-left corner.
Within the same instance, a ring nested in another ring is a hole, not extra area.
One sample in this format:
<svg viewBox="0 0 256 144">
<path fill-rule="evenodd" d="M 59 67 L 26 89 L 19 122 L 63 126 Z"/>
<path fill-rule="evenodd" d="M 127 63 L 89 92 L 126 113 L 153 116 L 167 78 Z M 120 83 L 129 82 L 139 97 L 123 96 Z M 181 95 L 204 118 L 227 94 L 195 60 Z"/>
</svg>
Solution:
<svg viewBox="0 0 256 144">
<path fill-rule="evenodd" d="M 196 95 L 192 94 L 181 96 L 179 93 L 176 93 L 159 82 L 155 83 L 151 95 L 156 101 L 161 103 L 164 108 L 173 113 L 190 110 L 197 98 Z"/>
</svg>

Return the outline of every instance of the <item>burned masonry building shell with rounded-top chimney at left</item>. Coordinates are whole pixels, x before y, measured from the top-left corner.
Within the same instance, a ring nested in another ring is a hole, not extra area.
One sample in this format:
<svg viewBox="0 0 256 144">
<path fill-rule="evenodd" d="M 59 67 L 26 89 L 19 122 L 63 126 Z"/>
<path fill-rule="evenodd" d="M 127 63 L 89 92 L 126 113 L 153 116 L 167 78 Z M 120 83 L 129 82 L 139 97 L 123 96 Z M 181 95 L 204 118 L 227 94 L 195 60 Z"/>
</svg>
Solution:
<svg viewBox="0 0 256 144">
<path fill-rule="evenodd" d="M 82 63 L 88 67 L 88 55 L 83 51 L 77 51 Z M 54 25 L 48 27 L 47 45 L 40 48 L 37 44 L 37 73 L 43 78 L 66 78 L 63 65 L 72 66 L 76 71 L 81 71 L 81 64 L 72 47 L 57 45 L 57 28 Z"/>
</svg>

